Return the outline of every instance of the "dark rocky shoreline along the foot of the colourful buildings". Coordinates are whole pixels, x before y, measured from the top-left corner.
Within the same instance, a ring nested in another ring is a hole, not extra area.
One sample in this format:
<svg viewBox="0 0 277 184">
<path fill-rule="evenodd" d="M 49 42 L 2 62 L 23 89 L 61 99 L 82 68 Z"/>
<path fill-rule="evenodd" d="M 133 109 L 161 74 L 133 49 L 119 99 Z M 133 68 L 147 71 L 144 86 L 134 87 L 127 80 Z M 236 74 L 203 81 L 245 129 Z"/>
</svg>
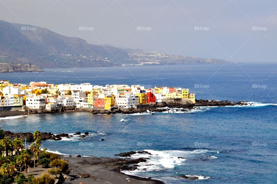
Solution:
<svg viewBox="0 0 277 184">
<path fill-rule="evenodd" d="M 97 109 L 97 108 L 80 108 L 77 110 L 68 110 L 63 111 L 61 113 L 74 113 L 74 112 L 89 112 L 92 114 L 135 114 L 135 113 L 157 113 L 157 112 L 164 112 L 167 111 L 167 108 L 179 108 L 180 111 L 190 111 L 192 109 L 200 108 L 200 107 L 224 107 L 224 106 L 243 106 L 248 105 L 244 102 L 231 102 L 231 101 L 216 101 L 216 100 L 197 100 L 194 104 L 187 104 L 183 102 L 163 102 L 160 104 L 149 104 L 144 107 L 138 107 L 138 108 L 130 108 L 130 109 L 111 109 L 111 110 L 105 110 L 105 109 Z M 0 118 L 10 117 L 10 116 L 20 116 L 20 114 L 27 115 L 27 111 L 0 111 Z M 60 113 L 54 113 L 50 111 L 42 111 L 41 113 L 33 113 L 33 114 L 60 114 Z"/>
</svg>

